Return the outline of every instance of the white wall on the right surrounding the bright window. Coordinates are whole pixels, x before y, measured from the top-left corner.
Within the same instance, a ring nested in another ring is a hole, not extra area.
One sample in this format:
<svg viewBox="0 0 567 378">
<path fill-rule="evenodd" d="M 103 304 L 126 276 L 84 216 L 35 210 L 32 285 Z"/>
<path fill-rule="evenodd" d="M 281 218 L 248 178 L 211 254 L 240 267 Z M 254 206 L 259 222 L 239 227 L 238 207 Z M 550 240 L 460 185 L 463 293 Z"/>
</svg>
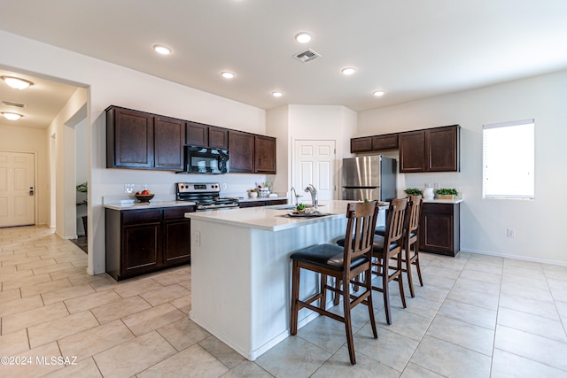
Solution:
<svg viewBox="0 0 567 378">
<path fill-rule="evenodd" d="M 400 174 L 400 190 L 439 182 L 463 193 L 461 250 L 567 265 L 567 72 L 359 113 L 357 136 L 460 124 L 461 172 Z M 535 120 L 535 200 L 482 198 L 482 126 Z M 559 190 L 558 190 L 559 189 Z M 515 228 L 516 237 L 506 236 Z"/>
</svg>

